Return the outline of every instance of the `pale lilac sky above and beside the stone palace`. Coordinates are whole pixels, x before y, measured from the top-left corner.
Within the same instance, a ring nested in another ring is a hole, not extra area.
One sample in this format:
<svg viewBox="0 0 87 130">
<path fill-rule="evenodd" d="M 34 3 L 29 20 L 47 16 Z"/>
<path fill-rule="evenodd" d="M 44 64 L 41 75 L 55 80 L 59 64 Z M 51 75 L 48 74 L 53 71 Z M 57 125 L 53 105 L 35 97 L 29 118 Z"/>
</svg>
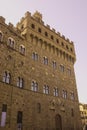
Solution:
<svg viewBox="0 0 87 130">
<path fill-rule="evenodd" d="M 79 101 L 87 104 L 87 0 L 0 0 L 0 16 L 14 26 L 27 11 L 36 10 L 45 24 L 74 42 Z"/>
</svg>

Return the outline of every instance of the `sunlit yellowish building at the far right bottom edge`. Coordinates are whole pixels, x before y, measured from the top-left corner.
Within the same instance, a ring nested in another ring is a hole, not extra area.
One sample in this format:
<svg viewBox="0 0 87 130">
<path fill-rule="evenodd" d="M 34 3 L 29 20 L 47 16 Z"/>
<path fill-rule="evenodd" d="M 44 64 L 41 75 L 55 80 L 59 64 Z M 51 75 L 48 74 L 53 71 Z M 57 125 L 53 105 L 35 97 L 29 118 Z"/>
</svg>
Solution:
<svg viewBox="0 0 87 130">
<path fill-rule="evenodd" d="M 83 130 L 87 130 L 87 104 L 79 104 Z"/>
</svg>

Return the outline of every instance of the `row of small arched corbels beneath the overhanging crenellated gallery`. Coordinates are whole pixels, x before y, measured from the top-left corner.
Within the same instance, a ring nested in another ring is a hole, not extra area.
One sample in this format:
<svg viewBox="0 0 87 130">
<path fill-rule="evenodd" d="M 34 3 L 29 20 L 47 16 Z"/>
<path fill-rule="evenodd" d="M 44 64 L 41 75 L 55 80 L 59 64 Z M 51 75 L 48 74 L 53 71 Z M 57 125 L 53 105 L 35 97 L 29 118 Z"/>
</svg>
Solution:
<svg viewBox="0 0 87 130">
<path fill-rule="evenodd" d="M 53 54 L 56 54 L 57 56 L 70 61 L 72 63 L 75 62 L 74 57 L 63 51 L 62 49 L 59 49 L 58 47 L 51 45 L 50 43 L 47 43 L 46 41 L 43 41 L 41 38 L 38 38 L 37 36 L 34 36 L 33 34 L 30 35 L 31 43 L 34 43 L 41 48 L 43 48 L 45 51 L 48 50 L 49 52 L 53 52 Z"/>
</svg>

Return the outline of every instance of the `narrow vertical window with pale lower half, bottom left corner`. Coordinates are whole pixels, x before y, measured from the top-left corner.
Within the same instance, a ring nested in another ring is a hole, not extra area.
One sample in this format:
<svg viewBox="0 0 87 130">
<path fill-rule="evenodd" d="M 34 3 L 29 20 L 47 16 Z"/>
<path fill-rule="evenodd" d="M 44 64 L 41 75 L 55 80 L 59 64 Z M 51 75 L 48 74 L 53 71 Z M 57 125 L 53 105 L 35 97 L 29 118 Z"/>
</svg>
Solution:
<svg viewBox="0 0 87 130">
<path fill-rule="evenodd" d="M 6 124 L 6 114 L 7 114 L 7 105 L 2 105 L 2 114 L 1 114 L 1 127 L 4 127 Z"/>
</svg>

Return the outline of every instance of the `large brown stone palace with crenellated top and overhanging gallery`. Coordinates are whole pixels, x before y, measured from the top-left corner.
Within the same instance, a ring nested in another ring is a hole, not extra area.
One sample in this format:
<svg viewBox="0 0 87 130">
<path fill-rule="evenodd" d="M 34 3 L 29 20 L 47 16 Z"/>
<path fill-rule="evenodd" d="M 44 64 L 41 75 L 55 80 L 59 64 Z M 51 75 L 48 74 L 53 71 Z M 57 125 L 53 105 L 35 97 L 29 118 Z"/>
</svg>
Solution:
<svg viewBox="0 0 87 130">
<path fill-rule="evenodd" d="M 81 130 L 74 43 L 26 12 L 0 17 L 0 130 Z"/>
</svg>

